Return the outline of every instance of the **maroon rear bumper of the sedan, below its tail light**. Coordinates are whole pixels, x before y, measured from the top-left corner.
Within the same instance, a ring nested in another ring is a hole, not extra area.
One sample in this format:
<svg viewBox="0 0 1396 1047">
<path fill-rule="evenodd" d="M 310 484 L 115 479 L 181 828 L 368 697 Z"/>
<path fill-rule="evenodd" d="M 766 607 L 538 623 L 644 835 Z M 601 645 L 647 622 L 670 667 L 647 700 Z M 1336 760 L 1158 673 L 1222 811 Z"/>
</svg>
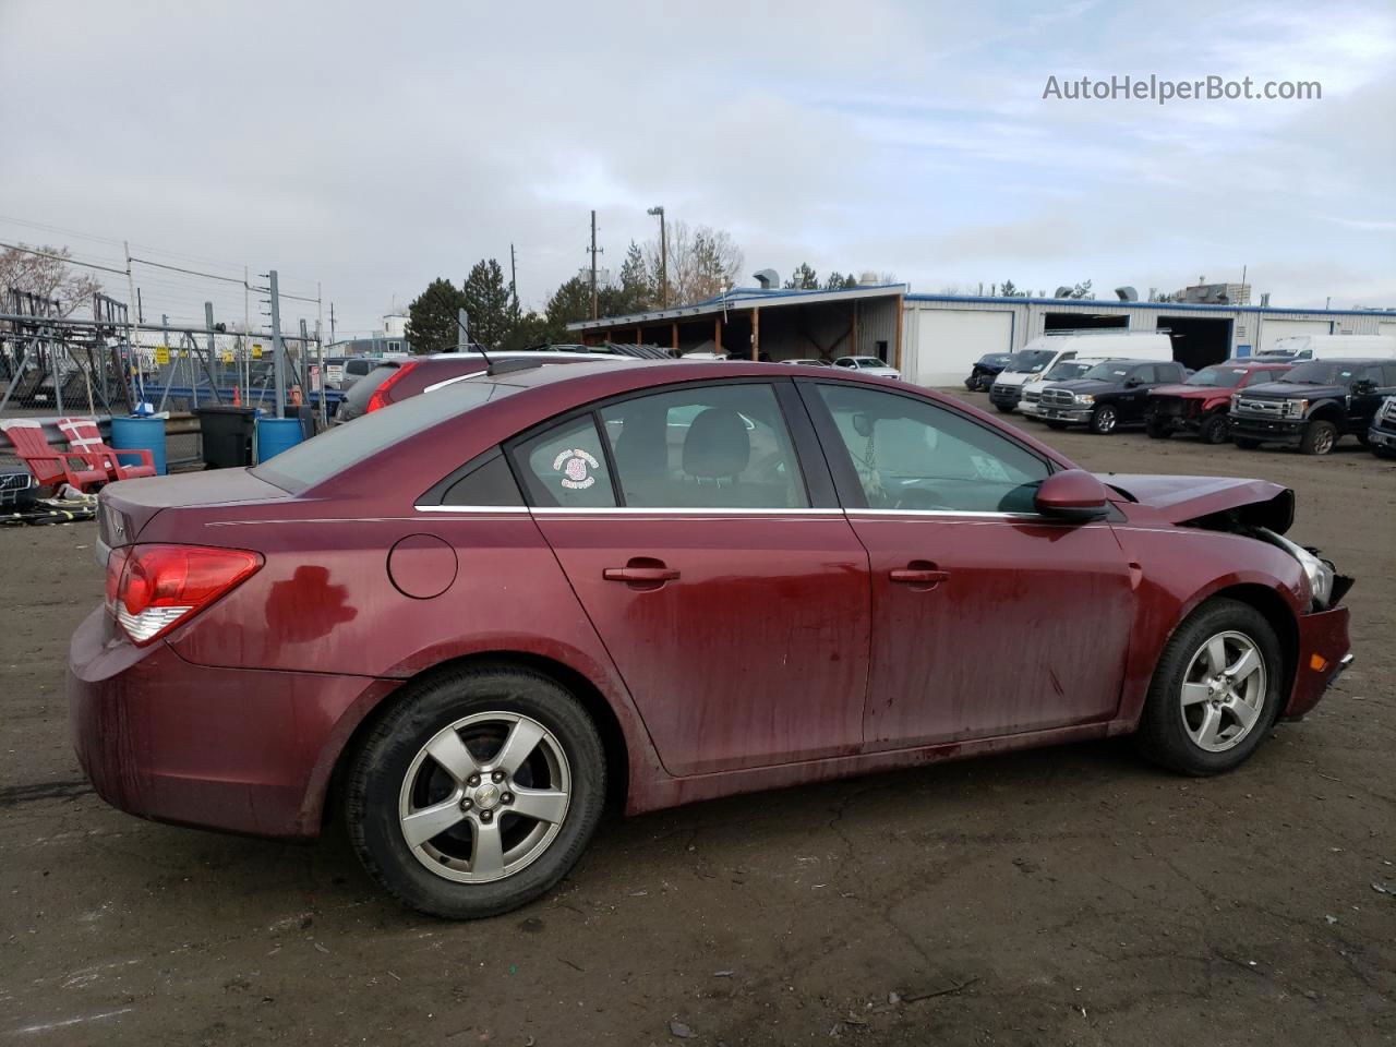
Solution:
<svg viewBox="0 0 1396 1047">
<path fill-rule="evenodd" d="M 113 641 L 106 611 L 68 649 L 73 745 L 98 796 L 155 821 L 315 836 L 355 709 L 398 685 L 367 677 L 195 666 L 166 644 Z"/>
</svg>

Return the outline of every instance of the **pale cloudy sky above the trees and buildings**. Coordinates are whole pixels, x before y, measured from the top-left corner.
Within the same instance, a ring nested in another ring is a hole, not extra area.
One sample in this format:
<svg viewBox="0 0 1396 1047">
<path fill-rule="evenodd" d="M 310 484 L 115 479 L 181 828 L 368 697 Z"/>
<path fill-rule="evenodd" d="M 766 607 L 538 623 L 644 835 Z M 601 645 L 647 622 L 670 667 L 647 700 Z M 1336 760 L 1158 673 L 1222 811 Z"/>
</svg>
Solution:
<svg viewBox="0 0 1396 1047">
<path fill-rule="evenodd" d="M 1127 74 L 1322 99 L 1043 98 Z M 1396 306 L 1389 0 L 0 0 L 0 242 L 275 265 L 341 331 L 511 243 L 542 306 L 592 208 L 618 265 L 655 204 L 745 272 L 1108 295 L 1248 267 L 1276 304 Z M 240 318 L 233 283 L 135 271 L 147 315 Z"/>
</svg>

